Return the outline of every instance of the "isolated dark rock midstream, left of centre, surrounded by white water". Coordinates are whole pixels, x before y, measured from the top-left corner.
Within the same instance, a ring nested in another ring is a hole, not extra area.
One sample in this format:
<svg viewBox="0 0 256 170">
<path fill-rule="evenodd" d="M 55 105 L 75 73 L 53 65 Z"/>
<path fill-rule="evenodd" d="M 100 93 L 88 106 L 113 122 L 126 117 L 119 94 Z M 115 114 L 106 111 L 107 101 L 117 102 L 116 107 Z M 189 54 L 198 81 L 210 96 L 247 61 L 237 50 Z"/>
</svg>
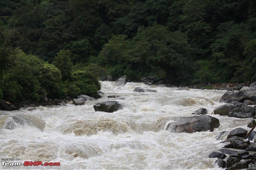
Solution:
<svg viewBox="0 0 256 170">
<path fill-rule="evenodd" d="M 123 109 L 123 105 L 116 101 L 107 101 L 102 103 L 97 103 L 93 105 L 95 111 L 104 111 L 108 113 L 113 113 L 117 110 Z"/>
</svg>

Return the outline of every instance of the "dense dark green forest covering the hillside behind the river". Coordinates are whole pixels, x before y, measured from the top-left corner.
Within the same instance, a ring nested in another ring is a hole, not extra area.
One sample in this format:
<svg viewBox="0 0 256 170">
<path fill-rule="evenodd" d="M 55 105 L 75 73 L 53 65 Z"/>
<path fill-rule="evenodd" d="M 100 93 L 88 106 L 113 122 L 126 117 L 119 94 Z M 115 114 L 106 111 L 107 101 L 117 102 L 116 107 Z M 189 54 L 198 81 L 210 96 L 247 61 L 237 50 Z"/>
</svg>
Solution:
<svg viewBox="0 0 256 170">
<path fill-rule="evenodd" d="M 255 0 L 1 0 L 0 99 L 92 95 L 99 77 L 256 81 Z"/>
</svg>

